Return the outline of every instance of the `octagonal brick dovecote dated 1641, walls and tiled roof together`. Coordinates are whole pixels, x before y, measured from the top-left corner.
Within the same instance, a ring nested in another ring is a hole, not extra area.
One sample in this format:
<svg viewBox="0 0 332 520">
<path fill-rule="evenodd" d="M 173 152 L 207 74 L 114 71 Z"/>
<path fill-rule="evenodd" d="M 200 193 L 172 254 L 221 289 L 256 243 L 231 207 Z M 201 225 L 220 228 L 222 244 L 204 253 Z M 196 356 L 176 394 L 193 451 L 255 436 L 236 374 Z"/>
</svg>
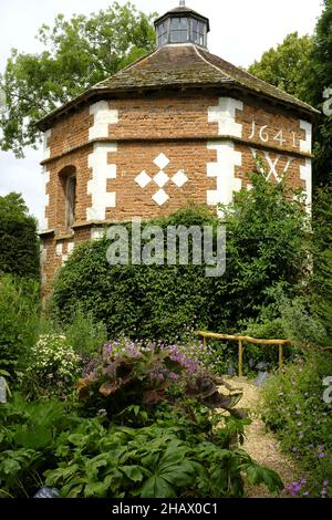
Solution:
<svg viewBox="0 0 332 520">
<path fill-rule="evenodd" d="M 163 20 L 178 18 L 178 9 Z M 198 14 L 181 7 L 180 15 Z M 310 209 L 315 114 L 193 42 L 163 43 L 56 108 L 39 123 L 43 291 L 73 248 L 103 236 L 110 222 L 166 216 L 191 202 L 216 210 L 229 204 L 250 188 L 257 157 L 270 181 L 284 174 L 303 187 Z M 74 221 L 65 215 L 69 184 Z"/>
</svg>

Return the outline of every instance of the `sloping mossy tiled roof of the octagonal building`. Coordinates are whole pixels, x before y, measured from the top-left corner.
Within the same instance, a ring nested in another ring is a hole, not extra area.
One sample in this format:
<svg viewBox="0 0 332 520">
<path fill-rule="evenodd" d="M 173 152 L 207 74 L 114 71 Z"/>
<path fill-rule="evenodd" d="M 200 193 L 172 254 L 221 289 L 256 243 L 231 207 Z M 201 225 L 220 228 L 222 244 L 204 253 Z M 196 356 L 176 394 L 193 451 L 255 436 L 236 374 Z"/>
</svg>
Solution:
<svg viewBox="0 0 332 520">
<path fill-rule="evenodd" d="M 229 86 L 250 92 L 260 97 L 287 104 L 298 111 L 318 113 L 315 108 L 272 86 L 231 63 L 193 44 L 165 45 L 137 60 L 104 80 L 65 105 L 51 112 L 39 122 L 45 129 L 52 119 L 101 93 L 162 90 L 166 87 Z"/>
</svg>

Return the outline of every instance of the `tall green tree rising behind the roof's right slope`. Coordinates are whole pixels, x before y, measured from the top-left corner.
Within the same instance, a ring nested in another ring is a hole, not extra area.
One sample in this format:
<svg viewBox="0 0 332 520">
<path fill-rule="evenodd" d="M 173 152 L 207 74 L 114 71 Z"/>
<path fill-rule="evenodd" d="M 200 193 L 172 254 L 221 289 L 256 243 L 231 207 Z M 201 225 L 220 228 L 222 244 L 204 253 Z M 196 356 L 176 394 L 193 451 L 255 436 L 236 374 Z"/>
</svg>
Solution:
<svg viewBox="0 0 332 520">
<path fill-rule="evenodd" d="M 283 89 L 322 112 L 314 127 L 314 185 L 332 181 L 332 0 L 323 0 L 323 12 L 313 37 L 291 33 L 267 51 L 249 72 Z M 329 101 L 329 98 L 331 101 Z M 329 111 L 325 107 L 329 106 Z"/>
</svg>

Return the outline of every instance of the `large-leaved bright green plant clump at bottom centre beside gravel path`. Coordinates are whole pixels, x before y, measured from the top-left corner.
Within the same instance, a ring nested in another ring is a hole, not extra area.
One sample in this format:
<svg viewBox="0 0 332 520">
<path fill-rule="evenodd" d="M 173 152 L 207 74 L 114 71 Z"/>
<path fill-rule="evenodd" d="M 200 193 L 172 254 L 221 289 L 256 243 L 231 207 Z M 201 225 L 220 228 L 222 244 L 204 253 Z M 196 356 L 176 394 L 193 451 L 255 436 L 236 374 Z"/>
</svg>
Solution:
<svg viewBox="0 0 332 520">
<path fill-rule="evenodd" d="M 61 496 L 69 498 L 241 497 L 242 474 L 274 493 L 282 486 L 246 451 L 222 448 L 218 434 L 197 434 L 195 420 L 178 414 L 145 428 L 95 428 L 89 437 L 81 428 L 61 451 L 64 461 L 45 472 L 46 483 L 60 487 Z"/>
</svg>

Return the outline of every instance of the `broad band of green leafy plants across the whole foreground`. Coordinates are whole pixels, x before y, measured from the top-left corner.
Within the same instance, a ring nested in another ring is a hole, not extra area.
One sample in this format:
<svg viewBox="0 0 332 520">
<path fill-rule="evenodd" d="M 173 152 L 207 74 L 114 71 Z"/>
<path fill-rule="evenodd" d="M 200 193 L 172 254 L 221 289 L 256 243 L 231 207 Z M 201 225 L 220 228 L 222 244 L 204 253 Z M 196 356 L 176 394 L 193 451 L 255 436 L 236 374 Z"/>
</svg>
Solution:
<svg viewBox="0 0 332 520">
<path fill-rule="evenodd" d="M 241 497 L 243 476 L 272 493 L 279 477 L 240 448 L 229 449 L 242 422 L 196 409 L 191 418 L 162 406 L 153 424 L 105 424 L 64 405 L 25 403 L 15 395 L 0 408 L 1 497 L 33 496 L 56 486 L 65 498 Z M 216 427 L 222 422 L 222 427 Z"/>
</svg>

